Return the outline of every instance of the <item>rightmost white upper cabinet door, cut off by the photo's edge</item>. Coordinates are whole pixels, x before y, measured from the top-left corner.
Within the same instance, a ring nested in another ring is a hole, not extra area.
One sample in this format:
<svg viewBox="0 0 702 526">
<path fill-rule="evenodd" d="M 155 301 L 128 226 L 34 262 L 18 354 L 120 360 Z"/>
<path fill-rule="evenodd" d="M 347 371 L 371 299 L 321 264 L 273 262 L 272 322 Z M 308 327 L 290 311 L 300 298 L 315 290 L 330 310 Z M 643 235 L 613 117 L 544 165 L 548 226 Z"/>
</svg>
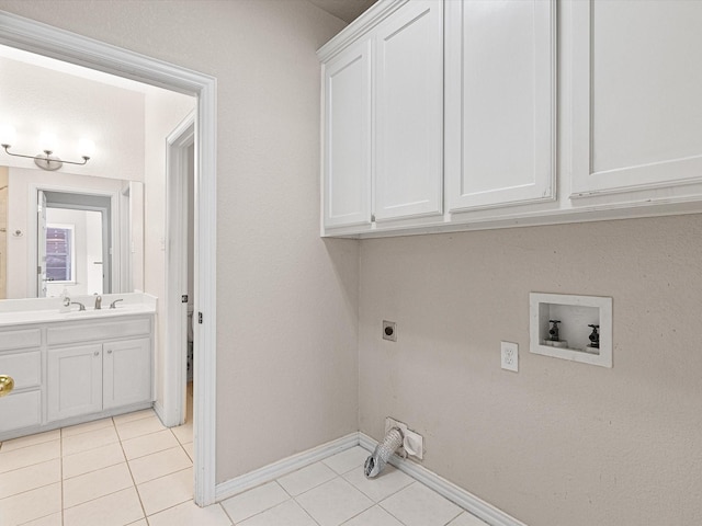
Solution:
<svg viewBox="0 0 702 526">
<path fill-rule="evenodd" d="M 702 2 L 570 9 L 571 197 L 702 181 Z"/>
</svg>

